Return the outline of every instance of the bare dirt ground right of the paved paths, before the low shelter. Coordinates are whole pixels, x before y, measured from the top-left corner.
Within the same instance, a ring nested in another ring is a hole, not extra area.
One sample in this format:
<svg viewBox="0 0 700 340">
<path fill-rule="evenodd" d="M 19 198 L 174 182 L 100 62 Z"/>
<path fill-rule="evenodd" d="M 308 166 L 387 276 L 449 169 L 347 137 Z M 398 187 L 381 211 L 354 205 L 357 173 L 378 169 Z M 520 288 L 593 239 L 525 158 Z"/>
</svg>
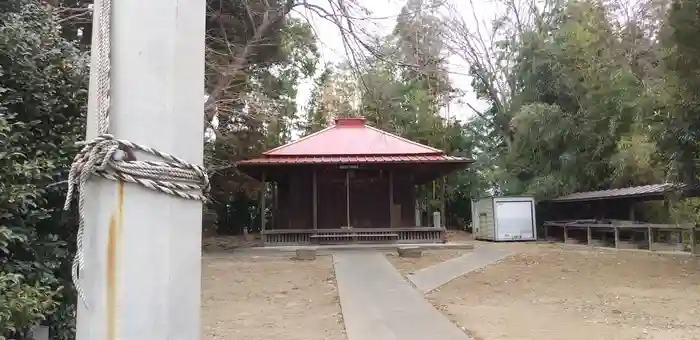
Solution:
<svg viewBox="0 0 700 340">
<path fill-rule="evenodd" d="M 511 247 L 521 253 L 428 295 L 477 339 L 700 339 L 698 260 Z"/>
</svg>

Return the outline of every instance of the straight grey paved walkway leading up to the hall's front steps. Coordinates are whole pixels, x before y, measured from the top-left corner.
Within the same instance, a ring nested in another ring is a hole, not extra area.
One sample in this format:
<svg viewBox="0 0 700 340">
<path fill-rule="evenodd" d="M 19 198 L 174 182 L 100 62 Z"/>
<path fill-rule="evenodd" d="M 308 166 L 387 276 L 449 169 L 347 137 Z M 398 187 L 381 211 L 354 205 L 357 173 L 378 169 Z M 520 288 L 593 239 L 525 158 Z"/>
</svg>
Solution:
<svg viewBox="0 0 700 340">
<path fill-rule="evenodd" d="M 469 340 L 378 252 L 333 255 L 348 340 Z"/>
</svg>

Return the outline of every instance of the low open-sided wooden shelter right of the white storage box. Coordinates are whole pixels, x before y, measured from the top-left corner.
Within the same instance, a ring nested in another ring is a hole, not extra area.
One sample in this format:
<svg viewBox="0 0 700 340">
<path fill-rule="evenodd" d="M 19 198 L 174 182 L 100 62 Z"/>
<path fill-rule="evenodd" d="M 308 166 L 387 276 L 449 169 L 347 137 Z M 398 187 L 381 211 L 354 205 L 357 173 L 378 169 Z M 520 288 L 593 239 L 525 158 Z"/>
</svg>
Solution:
<svg viewBox="0 0 700 340">
<path fill-rule="evenodd" d="M 659 224 L 639 221 L 638 205 L 670 196 L 697 197 L 694 187 L 651 184 L 621 189 L 577 192 L 540 204 L 546 239 L 591 246 L 698 252 L 698 228 L 692 223 Z M 643 213 L 644 211 L 642 211 Z M 675 237 L 673 237 L 675 236 Z"/>
</svg>

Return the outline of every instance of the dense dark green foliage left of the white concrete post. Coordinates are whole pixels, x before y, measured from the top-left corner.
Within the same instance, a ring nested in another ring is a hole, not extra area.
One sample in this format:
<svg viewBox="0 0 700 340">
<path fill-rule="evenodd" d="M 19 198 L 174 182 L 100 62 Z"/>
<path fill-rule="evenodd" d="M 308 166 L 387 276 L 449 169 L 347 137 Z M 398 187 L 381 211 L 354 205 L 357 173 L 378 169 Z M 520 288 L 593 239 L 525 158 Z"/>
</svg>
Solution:
<svg viewBox="0 0 700 340">
<path fill-rule="evenodd" d="M 68 339 L 75 224 L 50 184 L 67 177 L 82 135 L 88 58 L 39 1 L 17 3 L 0 14 L 0 336 L 48 320 Z"/>
</svg>

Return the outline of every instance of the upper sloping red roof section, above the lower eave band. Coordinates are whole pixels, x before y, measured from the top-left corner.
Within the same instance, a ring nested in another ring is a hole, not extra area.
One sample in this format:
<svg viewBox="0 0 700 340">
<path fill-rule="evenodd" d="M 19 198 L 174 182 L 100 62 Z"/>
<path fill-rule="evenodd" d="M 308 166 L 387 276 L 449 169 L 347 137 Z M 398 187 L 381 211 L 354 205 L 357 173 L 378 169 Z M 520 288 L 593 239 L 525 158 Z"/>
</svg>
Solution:
<svg viewBox="0 0 700 340">
<path fill-rule="evenodd" d="M 367 126 L 363 117 L 335 125 L 263 153 L 265 156 L 442 155 L 442 150 Z"/>
</svg>

